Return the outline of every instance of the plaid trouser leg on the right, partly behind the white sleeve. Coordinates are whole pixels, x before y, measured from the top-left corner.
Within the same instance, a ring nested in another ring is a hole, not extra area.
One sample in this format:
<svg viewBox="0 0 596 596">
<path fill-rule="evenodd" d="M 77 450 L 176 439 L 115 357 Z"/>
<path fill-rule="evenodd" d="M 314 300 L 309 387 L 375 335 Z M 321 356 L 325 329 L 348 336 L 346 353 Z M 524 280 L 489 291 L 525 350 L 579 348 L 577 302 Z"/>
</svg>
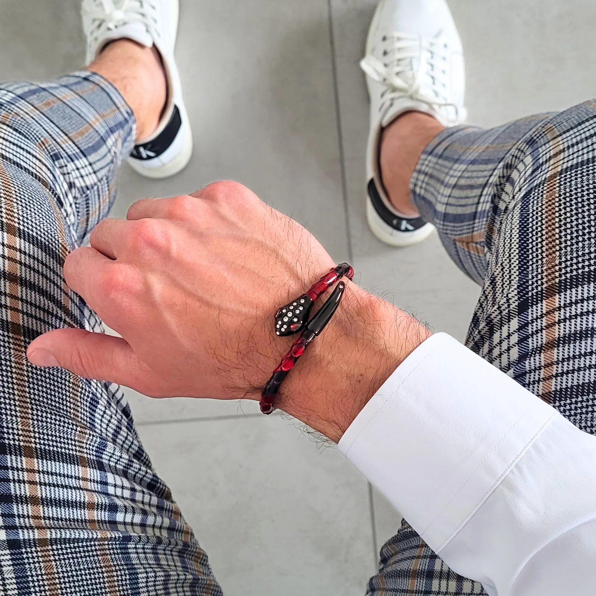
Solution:
<svg viewBox="0 0 596 596">
<path fill-rule="evenodd" d="M 467 346 L 596 434 L 596 103 L 488 131 L 446 129 L 424 151 L 411 192 L 482 285 Z M 403 522 L 368 594 L 486 592 Z"/>
</svg>

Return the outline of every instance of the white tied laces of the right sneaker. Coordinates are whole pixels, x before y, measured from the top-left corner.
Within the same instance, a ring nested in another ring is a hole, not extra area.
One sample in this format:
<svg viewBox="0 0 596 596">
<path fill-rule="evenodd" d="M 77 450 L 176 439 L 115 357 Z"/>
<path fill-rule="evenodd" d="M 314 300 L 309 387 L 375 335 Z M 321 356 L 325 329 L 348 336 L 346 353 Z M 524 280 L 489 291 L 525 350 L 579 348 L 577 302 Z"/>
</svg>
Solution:
<svg viewBox="0 0 596 596">
<path fill-rule="evenodd" d="M 385 86 L 381 92 L 380 111 L 387 103 L 406 96 L 434 109 L 454 108 L 457 117 L 460 116 L 458 105 L 447 97 L 444 62 L 447 60 L 448 46 L 440 39 L 440 32 L 432 39 L 393 33 L 384 35 L 382 41 L 386 44 L 383 50 L 386 61 L 369 54 L 360 63 L 371 79 Z"/>
</svg>

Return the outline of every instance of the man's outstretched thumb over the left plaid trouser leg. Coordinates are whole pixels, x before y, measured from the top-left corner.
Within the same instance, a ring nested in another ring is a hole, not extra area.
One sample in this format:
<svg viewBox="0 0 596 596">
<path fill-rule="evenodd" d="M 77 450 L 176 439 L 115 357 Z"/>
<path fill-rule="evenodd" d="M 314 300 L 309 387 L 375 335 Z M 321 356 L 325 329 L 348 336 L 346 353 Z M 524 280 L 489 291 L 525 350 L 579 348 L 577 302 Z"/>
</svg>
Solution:
<svg viewBox="0 0 596 596">
<path fill-rule="evenodd" d="M 38 367 L 62 367 L 85 378 L 135 388 L 150 377 L 132 347 L 121 337 L 83 329 L 57 329 L 39 336 L 27 348 L 27 358 Z"/>
</svg>

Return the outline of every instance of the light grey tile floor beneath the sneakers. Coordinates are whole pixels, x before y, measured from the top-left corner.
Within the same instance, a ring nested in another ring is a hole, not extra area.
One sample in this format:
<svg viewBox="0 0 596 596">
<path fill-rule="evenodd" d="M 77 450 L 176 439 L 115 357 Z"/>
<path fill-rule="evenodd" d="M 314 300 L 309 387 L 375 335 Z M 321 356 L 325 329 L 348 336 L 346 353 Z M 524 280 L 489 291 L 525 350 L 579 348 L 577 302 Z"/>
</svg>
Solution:
<svg viewBox="0 0 596 596">
<path fill-rule="evenodd" d="M 464 41 L 471 122 L 496 125 L 596 95 L 592 0 L 449 4 Z M 193 162 L 162 182 L 125 167 L 113 215 L 137 198 L 237 179 L 337 260 L 352 260 L 361 285 L 463 339 L 479 288 L 437 238 L 396 251 L 364 223 L 368 112 L 358 60 L 374 5 L 181 0 L 177 56 Z M 80 67 L 78 10 L 78 0 L 0 0 L 0 79 Z M 253 403 L 129 399 L 226 594 L 364 593 L 399 516 L 337 451 L 317 449 L 292 421 L 261 418 Z"/>
</svg>

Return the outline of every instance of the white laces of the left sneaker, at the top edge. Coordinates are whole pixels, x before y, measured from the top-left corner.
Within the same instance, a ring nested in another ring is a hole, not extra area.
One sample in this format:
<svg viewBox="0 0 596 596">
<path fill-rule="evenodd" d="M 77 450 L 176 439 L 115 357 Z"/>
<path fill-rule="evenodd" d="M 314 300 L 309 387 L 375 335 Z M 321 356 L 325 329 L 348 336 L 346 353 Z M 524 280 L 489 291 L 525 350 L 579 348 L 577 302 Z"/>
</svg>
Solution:
<svg viewBox="0 0 596 596">
<path fill-rule="evenodd" d="M 156 5 L 151 0 L 91 0 L 83 4 L 83 14 L 91 23 L 89 41 L 97 41 L 106 31 L 137 21 L 145 27 L 157 25 Z"/>
</svg>

